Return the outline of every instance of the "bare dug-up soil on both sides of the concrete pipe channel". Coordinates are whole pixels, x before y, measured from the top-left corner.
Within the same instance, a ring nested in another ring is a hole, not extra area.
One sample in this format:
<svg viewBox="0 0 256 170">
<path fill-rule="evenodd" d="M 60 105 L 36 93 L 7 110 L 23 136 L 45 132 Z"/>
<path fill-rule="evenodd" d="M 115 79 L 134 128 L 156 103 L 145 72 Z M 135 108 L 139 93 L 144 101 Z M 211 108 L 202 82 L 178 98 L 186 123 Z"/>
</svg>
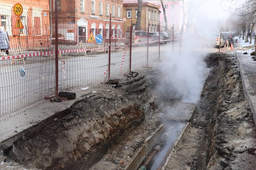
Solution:
<svg viewBox="0 0 256 170">
<path fill-rule="evenodd" d="M 256 128 L 237 60 L 214 53 L 205 62 L 211 72 L 200 101 L 163 169 L 254 169 Z M 181 100 L 162 76 L 145 69 L 91 89 L 96 93 L 1 142 L 0 169 L 126 169 L 166 121 L 162 105 Z M 159 84 L 166 91 L 157 91 Z"/>
</svg>

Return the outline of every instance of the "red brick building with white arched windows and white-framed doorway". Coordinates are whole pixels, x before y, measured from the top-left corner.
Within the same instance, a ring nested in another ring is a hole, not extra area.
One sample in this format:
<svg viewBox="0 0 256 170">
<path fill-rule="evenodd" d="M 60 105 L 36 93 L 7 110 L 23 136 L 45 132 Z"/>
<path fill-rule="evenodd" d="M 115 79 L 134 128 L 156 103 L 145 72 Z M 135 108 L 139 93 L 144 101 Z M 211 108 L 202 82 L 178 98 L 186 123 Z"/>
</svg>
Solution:
<svg viewBox="0 0 256 170">
<path fill-rule="evenodd" d="M 68 4 L 68 5 L 67 5 Z M 52 6 L 54 4 L 52 2 Z M 76 43 L 86 42 L 92 33 L 108 39 L 122 37 L 123 0 L 58 0 L 59 34 Z M 109 15 L 112 25 L 109 26 Z"/>
</svg>

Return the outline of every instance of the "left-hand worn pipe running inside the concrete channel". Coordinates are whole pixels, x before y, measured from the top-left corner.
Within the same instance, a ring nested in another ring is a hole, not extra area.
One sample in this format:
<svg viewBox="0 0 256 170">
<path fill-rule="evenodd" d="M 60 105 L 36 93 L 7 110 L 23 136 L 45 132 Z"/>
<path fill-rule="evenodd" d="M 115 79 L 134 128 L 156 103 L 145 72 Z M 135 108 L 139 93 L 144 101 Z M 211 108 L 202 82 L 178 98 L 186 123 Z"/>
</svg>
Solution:
<svg viewBox="0 0 256 170">
<path fill-rule="evenodd" d="M 173 126 L 170 126 L 169 129 L 167 130 L 166 133 L 163 134 L 163 136 L 160 139 L 159 144 L 154 148 L 154 150 L 152 151 L 152 153 L 150 154 L 150 156 L 147 158 L 147 160 L 144 162 L 144 164 L 140 167 L 139 170 L 147 170 L 147 166 L 150 163 L 150 161 L 153 159 L 153 157 L 155 156 L 155 154 L 161 150 L 161 145 L 163 145 L 164 143 L 166 143 L 166 140 L 168 139 L 170 133 L 171 133 L 171 129 L 173 129 Z"/>
</svg>

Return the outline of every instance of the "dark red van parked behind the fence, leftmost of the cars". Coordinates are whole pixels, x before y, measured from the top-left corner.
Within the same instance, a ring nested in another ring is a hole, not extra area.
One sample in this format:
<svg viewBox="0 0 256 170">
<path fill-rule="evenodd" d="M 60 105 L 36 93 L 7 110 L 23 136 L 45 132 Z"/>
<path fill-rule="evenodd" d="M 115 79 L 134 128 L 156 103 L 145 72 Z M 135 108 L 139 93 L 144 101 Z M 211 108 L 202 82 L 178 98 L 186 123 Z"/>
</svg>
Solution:
<svg viewBox="0 0 256 170">
<path fill-rule="evenodd" d="M 154 41 L 155 39 L 149 35 L 149 42 Z M 148 42 L 148 33 L 146 31 L 132 31 L 132 43 L 147 43 Z M 130 31 L 126 31 L 126 44 L 130 43 Z M 141 44 L 137 44 L 141 46 Z"/>
</svg>

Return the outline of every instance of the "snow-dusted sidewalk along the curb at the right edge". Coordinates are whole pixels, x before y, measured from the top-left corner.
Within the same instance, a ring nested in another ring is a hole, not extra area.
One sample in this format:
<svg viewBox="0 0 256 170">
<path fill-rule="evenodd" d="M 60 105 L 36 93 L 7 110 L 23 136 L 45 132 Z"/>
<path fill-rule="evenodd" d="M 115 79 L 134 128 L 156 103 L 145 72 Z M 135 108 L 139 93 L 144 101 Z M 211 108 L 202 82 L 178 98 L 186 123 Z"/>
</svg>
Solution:
<svg viewBox="0 0 256 170">
<path fill-rule="evenodd" d="M 236 51 L 236 56 L 242 77 L 244 96 L 248 99 L 256 124 L 256 61 L 250 55 L 252 51 L 254 50 L 248 50 L 248 54 L 243 54 L 246 51 Z"/>
</svg>

